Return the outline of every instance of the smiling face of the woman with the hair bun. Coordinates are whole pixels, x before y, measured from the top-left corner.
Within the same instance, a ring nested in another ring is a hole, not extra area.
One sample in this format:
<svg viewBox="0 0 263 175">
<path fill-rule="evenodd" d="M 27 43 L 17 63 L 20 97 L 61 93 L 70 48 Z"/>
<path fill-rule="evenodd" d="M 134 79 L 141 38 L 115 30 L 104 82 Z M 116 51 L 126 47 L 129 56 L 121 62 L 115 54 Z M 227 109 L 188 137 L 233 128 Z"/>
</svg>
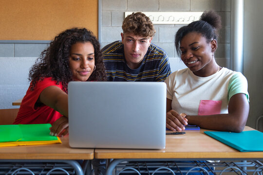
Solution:
<svg viewBox="0 0 263 175">
<path fill-rule="evenodd" d="M 218 69 L 212 56 L 217 48 L 217 41 L 207 43 L 207 39 L 199 33 L 191 32 L 180 42 L 181 59 L 197 76 L 209 76 Z"/>
</svg>

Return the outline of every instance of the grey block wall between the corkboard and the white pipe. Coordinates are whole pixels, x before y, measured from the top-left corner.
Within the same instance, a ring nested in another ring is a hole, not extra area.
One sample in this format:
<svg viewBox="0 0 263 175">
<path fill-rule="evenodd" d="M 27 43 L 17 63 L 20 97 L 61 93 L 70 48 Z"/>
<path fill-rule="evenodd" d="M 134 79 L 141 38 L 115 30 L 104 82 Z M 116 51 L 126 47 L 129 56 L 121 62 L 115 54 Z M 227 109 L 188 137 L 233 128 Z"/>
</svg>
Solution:
<svg viewBox="0 0 263 175">
<path fill-rule="evenodd" d="M 122 21 L 125 12 L 200 12 L 215 10 L 222 17 L 223 28 L 215 58 L 222 67 L 230 65 L 230 5 L 231 0 L 102 0 L 102 47 L 121 40 Z M 156 34 L 152 43 L 164 49 L 170 58 L 172 71 L 185 68 L 174 47 L 174 35 L 180 24 L 155 24 Z"/>
</svg>

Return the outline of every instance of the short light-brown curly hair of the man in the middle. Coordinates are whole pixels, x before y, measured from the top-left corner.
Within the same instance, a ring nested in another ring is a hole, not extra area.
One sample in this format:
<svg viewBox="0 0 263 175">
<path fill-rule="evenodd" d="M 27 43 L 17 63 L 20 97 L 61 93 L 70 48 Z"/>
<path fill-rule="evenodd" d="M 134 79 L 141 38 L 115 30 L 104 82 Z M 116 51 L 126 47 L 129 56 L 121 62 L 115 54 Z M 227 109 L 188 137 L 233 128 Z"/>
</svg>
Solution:
<svg viewBox="0 0 263 175">
<path fill-rule="evenodd" d="M 123 33 L 133 33 L 143 37 L 153 37 L 156 33 L 149 17 L 141 12 L 128 15 L 122 23 Z"/>
</svg>

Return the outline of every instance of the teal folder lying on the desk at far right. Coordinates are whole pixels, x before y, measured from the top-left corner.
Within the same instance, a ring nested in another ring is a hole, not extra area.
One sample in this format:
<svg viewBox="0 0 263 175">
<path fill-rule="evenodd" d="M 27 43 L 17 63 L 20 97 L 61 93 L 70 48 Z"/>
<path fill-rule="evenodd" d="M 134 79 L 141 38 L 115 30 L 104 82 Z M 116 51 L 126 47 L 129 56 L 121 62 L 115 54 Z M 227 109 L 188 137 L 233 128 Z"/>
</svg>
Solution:
<svg viewBox="0 0 263 175">
<path fill-rule="evenodd" d="M 204 133 L 241 152 L 263 151 L 263 133 L 257 130 L 241 133 L 222 131 L 205 131 Z"/>
</svg>

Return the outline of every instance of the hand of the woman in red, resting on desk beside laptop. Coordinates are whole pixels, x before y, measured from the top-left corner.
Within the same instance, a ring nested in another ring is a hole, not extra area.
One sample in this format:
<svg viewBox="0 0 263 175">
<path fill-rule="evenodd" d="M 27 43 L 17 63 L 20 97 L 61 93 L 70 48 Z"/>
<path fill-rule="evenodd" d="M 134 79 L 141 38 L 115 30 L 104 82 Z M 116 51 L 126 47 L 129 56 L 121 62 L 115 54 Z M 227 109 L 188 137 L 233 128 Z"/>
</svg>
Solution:
<svg viewBox="0 0 263 175">
<path fill-rule="evenodd" d="M 57 119 L 50 129 L 50 135 L 63 137 L 69 133 L 69 119 L 65 116 Z"/>
</svg>

